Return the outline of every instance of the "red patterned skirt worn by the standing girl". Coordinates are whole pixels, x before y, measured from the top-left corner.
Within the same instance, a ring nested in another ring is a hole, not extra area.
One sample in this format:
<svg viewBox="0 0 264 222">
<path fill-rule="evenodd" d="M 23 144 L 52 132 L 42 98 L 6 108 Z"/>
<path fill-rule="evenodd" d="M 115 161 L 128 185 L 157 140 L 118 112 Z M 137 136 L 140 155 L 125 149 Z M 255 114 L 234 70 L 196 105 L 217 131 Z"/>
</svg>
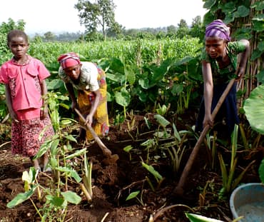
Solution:
<svg viewBox="0 0 264 222">
<path fill-rule="evenodd" d="M 37 113 L 37 114 L 36 114 Z M 17 113 L 19 122 L 12 121 L 11 126 L 11 151 L 13 154 L 32 157 L 39 151 L 39 148 L 46 139 L 54 135 L 54 128 L 51 125 L 51 119 L 47 116 L 44 119 L 40 117 L 40 109 L 31 109 L 23 113 Z M 23 117 L 31 116 L 30 119 Z M 40 134 L 43 133 L 43 135 Z"/>
</svg>

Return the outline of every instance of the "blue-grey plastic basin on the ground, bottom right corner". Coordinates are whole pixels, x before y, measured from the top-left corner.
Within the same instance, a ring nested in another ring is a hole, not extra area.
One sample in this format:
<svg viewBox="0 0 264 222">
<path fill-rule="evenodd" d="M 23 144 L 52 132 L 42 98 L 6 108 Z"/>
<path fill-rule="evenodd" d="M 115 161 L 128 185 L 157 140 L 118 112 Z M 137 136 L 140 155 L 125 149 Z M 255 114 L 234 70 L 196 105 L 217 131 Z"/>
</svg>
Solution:
<svg viewBox="0 0 264 222">
<path fill-rule="evenodd" d="M 243 216 L 240 222 L 263 222 L 263 183 L 245 183 L 235 188 L 230 196 L 230 210 L 234 219 Z"/>
</svg>

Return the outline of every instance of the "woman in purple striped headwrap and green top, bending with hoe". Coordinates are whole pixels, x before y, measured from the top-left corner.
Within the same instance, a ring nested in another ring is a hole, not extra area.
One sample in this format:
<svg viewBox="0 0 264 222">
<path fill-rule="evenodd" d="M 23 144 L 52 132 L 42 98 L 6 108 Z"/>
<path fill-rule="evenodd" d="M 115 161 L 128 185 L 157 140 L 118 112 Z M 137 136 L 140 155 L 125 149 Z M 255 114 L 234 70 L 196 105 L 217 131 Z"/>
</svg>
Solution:
<svg viewBox="0 0 264 222">
<path fill-rule="evenodd" d="M 236 103 L 236 84 L 230 89 L 215 121 L 211 112 L 215 108 L 230 79 L 240 80 L 245 73 L 249 54 L 249 41 L 230 42 L 230 31 L 220 19 L 210 23 L 205 29 L 205 49 L 201 54 L 204 95 L 200 105 L 196 131 L 202 131 L 204 126 L 213 127 L 214 122 L 225 122 L 228 133 L 233 132 L 235 123 L 239 123 Z M 239 61 L 238 61 L 238 54 Z M 239 66 L 237 67 L 237 64 Z"/>
</svg>

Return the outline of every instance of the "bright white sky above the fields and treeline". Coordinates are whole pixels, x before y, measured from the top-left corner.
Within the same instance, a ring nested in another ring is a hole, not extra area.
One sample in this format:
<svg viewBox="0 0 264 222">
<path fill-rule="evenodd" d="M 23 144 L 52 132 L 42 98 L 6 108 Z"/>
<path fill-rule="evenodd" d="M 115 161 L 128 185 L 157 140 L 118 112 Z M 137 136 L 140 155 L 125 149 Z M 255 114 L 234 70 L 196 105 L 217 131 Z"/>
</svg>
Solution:
<svg viewBox="0 0 264 222">
<path fill-rule="evenodd" d="M 11 18 L 26 22 L 26 34 L 83 32 L 78 0 L 9 0 L 1 1 L 0 24 Z M 93 2 L 93 1 L 91 1 Z M 126 29 L 178 26 L 181 19 L 191 25 L 196 16 L 205 14 L 203 0 L 113 0 L 115 18 Z"/>
</svg>

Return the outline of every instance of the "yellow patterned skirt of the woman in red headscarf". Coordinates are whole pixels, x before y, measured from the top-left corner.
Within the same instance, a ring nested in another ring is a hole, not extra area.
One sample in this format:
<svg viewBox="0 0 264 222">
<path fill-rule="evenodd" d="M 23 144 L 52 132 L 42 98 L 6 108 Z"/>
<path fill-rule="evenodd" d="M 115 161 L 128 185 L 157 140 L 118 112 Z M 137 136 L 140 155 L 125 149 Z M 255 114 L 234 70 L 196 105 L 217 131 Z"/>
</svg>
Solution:
<svg viewBox="0 0 264 222">
<path fill-rule="evenodd" d="M 107 111 L 107 84 L 106 74 L 98 68 L 98 84 L 101 92 L 101 98 L 93 116 L 92 127 L 98 136 L 107 136 L 109 131 L 108 123 L 108 111 Z M 95 94 L 92 91 L 78 91 L 78 108 L 83 116 L 87 116 L 90 113 L 91 105 L 95 99 Z M 86 131 L 86 140 L 93 140 L 93 136 L 90 131 Z"/>
</svg>

